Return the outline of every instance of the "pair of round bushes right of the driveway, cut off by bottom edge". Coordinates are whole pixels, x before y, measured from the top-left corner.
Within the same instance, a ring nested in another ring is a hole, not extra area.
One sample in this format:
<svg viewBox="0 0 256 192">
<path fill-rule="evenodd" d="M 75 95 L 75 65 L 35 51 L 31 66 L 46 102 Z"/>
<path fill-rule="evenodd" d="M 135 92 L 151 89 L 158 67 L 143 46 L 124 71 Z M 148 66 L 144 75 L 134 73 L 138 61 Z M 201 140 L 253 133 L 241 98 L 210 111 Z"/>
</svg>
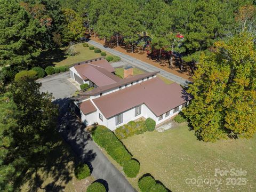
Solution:
<svg viewBox="0 0 256 192">
<path fill-rule="evenodd" d="M 161 183 L 157 183 L 151 175 L 142 176 L 138 186 L 141 192 L 167 192 L 167 189 Z"/>
</svg>

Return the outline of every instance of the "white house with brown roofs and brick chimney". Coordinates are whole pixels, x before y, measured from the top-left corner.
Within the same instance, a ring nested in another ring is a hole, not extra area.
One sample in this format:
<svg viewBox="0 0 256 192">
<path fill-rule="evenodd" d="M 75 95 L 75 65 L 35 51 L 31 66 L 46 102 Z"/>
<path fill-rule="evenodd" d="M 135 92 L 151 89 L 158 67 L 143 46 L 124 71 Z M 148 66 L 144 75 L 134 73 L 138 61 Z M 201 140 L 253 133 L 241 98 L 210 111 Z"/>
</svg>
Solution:
<svg viewBox="0 0 256 192">
<path fill-rule="evenodd" d="M 84 66 L 83 69 L 83 65 L 75 67 L 75 73 L 83 79 L 83 83 L 89 79 L 96 86 L 71 98 L 75 104 L 74 111 L 86 126 L 98 123 L 115 130 L 141 117 L 150 117 L 158 125 L 177 115 L 189 101 L 179 84 L 165 84 L 157 77 L 158 71 L 133 76 L 128 67 L 128 73 L 125 70 L 126 78 L 116 79 L 107 69 L 102 70 L 90 63 L 86 65 L 88 67 Z M 90 74 L 95 72 L 91 67 L 100 69 L 103 74 L 108 71 L 108 75 L 102 77 L 98 72 Z"/>
</svg>

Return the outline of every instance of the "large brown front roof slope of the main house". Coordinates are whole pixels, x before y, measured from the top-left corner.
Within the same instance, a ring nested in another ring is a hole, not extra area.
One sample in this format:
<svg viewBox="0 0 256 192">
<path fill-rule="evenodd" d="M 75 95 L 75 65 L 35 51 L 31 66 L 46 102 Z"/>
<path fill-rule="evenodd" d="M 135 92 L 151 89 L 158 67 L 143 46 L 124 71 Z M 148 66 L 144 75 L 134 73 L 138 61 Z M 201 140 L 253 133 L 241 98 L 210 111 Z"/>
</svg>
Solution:
<svg viewBox="0 0 256 192">
<path fill-rule="evenodd" d="M 130 79 L 130 78 L 129 78 Z M 93 99 L 106 118 L 145 103 L 158 117 L 188 101 L 177 83 L 165 84 L 158 77 Z"/>
</svg>

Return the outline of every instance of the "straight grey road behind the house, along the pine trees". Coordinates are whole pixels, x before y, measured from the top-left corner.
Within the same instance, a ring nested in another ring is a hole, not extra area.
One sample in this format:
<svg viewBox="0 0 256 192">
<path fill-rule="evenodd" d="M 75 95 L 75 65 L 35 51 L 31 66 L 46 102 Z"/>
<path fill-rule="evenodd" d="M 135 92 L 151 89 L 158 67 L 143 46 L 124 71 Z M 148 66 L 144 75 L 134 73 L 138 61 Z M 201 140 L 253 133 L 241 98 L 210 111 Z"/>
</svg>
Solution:
<svg viewBox="0 0 256 192">
<path fill-rule="evenodd" d="M 101 50 L 104 50 L 104 51 L 107 51 L 107 52 L 109 52 L 111 54 L 117 55 L 120 58 L 122 58 L 124 61 L 126 61 L 127 63 L 130 63 L 131 65 L 139 67 L 139 68 L 141 68 L 141 69 L 143 69 L 145 71 L 148 71 L 148 72 L 160 71 L 160 74 L 163 77 L 165 77 L 167 79 L 170 79 L 171 81 L 176 82 L 176 83 L 178 83 L 180 85 L 185 85 L 186 86 L 188 83 L 190 83 L 187 79 L 184 79 L 184 78 L 179 77 L 177 75 L 171 74 L 171 73 L 169 73 L 169 72 L 167 72 L 167 71 L 165 71 L 165 70 L 163 70 L 161 68 L 158 68 L 158 67 L 155 67 L 153 65 L 150 65 L 147 62 L 144 62 L 144 61 L 141 61 L 139 59 L 133 58 L 130 55 L 121 53 L 121 52 L 116 51 L 114 49 L 111 49 L 109 47 L 105 47 L 105 46 L 101 45 L 100 43 L 95 42 L 93 40 L 90 40 L 88 43 L 92 44 L 95 47 L 100 48 Z"/>
</svg>

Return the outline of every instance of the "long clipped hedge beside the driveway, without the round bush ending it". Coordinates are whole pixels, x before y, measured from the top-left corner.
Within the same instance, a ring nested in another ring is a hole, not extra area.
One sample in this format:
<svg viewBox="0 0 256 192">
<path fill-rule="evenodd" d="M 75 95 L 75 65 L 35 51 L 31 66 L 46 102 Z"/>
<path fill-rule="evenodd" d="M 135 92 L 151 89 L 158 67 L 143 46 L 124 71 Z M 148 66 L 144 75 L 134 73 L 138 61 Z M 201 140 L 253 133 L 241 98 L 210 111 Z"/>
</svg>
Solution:
<svg viewBox="0 0 256 192">
<path fill-rule="evenodd" d="M 97 126 L 92 132 L 92 138 L 100 147 L 105 148 L 117 163 L 123 165 L 124 162 L 132 159 L 131 154 L 125 149 L 123 143 L 107 127 Z"/>
</svg>

